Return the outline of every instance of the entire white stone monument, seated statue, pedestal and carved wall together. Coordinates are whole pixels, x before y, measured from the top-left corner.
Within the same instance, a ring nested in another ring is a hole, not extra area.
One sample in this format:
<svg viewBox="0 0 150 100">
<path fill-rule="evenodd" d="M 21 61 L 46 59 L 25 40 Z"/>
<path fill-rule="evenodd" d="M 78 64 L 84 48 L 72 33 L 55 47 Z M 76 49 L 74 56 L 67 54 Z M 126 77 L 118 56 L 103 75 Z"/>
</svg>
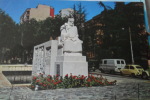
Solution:
<svg viewBox="0 0 150 100">
<path fill-rule="evenodd" d="M 58 40 L 34 47 L 32 74 L 88 76 L 86 57 L 82 56 L 83 42 L 78 38 L 74 19 L 68 18 L 68 22 L 60 27 L 60 31 L 61 36 Z"/>
</svg>

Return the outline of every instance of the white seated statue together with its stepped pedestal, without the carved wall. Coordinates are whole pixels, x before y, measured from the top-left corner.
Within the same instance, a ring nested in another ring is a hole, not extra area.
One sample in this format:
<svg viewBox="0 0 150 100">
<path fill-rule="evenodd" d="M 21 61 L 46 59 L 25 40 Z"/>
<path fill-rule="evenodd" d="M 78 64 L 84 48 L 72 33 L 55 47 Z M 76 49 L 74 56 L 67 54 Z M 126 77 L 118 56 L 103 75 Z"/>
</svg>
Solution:
<svg viewBox="0 0 150 100">
<path fill-rule="evenodd" d="M 82 56 L 82 41 L 78 38 L 77 27 L 74 19 L 69 18 L 68 23 L 61 26 L 61 37 L 58 51 L 62 51 L 56 58 L 56 74 L 65 76 L 85 75 L 88 76 L 88 64 L 86 57 Z"/>
</svg>

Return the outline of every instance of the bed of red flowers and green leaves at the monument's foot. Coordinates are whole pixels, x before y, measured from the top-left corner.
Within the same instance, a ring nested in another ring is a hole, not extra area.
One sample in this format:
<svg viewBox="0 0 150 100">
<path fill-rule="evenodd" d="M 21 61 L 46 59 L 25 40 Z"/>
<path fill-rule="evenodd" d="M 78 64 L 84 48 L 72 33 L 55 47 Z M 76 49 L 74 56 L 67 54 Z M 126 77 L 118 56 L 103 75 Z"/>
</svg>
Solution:
<svg viewBox="0 0 150 100">
<path fill-rule="evenodd" d="M 92 87 L 92 86 L 104 86 L 104 85 L 115 85 L 116 80 L 109 82 L 107 79 L 98 75 L 94 77 L 93 75 L 84 76 L 73 76 L 66 75 L 64 78 L 56 76 L 45 76 L 40 74 L 39 76 L 33 76 L 31 88 L 35 89 L 56 89 L 56 88 L 78 88 L 78 87 Z"/>
</svg>

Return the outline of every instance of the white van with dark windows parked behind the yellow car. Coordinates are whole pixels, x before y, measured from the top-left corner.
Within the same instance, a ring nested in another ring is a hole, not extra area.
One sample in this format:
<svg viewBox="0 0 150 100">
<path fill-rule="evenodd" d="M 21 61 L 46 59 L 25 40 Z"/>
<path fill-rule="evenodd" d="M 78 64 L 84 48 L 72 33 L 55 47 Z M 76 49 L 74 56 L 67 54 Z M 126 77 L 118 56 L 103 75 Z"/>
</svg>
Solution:
<svg viewBox="0 0 150 100">
<path fill-rule="evenodd" d="M 120 69 L 124 68 L 126 62 L 124 59 L 102 59 L 99 69 L 101 72 L 120 72 Z"/>
</svg>

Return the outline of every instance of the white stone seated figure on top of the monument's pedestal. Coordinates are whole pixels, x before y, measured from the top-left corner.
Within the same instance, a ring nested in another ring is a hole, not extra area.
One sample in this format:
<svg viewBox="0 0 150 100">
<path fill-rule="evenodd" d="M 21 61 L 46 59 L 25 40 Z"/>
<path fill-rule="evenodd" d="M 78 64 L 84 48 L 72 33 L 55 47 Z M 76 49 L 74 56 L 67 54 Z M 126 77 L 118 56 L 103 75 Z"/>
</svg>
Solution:
<svg viewBox="0 0 150 100">
<path fill-rule="evenodd" d="M 68 22 L 60 27 L 60 31 L 64 55 L 82 55 L 83 42 L 78 38 L 78 30 L 74 26 L 74 18 L 68 18 Z"/>
</svg>

